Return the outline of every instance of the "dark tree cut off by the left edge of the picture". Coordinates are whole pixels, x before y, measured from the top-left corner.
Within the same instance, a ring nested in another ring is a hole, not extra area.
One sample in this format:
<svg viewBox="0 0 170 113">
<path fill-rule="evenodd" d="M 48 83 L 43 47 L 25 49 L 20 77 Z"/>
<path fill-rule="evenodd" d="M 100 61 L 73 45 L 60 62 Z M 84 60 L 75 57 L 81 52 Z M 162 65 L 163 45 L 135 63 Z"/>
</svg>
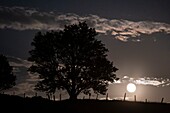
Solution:
<svg viewBox="0 0 170 113">
<path fill-rule="evenodd" d="M 0 54 L 0 91 L 15 85 L 16 76 L 13 75 L 12 70 L 6 56 Z"/>
</svg>

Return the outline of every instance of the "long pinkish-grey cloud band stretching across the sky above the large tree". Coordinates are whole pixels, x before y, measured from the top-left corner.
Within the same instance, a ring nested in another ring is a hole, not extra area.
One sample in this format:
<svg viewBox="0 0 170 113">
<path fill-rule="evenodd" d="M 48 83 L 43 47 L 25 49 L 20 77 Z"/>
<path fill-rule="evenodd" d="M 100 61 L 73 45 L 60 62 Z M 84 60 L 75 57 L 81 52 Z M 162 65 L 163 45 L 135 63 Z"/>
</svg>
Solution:
<svg viewBox="0 0 170 113">
<path fill-rule="evenodd" d="M 127 42 L 139 42 L 141 34 L 164 32 L 170 34 L 170 24 L 151 21 L 129 21 L 123 19 L 107 19 L 97 15 L 79 16 L 73 13 L 61 14 L 54 11 L 45 12 L 27 7 L 0 7 L 0 29 L 15 30 L 61 30 L 64 25 L 86 21 L 98 33 L 111 35 Z"/>
</svg>

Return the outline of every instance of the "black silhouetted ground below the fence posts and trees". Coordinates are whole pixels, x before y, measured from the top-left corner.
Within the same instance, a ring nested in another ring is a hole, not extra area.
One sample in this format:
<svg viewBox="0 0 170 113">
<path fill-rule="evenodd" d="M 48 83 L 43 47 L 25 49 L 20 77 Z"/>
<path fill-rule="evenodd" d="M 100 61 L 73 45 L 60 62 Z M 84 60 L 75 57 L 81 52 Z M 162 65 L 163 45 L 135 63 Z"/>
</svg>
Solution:
<svg viewBox="0 0 170 113">
<path fill-rule="evenodd" d="M 0 113 L 170 113 L 170 104 L 116 100 L 52 101 L 0 94 Z"/>
</svg>

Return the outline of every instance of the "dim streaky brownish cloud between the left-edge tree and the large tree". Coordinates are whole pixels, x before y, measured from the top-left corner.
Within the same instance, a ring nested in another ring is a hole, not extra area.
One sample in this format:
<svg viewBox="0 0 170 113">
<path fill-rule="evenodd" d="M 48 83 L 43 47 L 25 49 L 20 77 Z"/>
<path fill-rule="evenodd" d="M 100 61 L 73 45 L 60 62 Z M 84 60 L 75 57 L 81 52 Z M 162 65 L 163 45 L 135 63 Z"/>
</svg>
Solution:
<svg viewBox="0 0 170 113">
<path fill-rule="evenodd" d="M 31 62 L 21 58 L 7 56 L 9 64 L 13 67 L 13 73 L 16 75 L 16 85 L 7 90 L 6 93 L 15 92 L 16 95 L 33 96 L 35 94 L 35 85 L 40 80 L 38 75 L 31 74 L 27 70 L 31 66 Z"/>
</svg>

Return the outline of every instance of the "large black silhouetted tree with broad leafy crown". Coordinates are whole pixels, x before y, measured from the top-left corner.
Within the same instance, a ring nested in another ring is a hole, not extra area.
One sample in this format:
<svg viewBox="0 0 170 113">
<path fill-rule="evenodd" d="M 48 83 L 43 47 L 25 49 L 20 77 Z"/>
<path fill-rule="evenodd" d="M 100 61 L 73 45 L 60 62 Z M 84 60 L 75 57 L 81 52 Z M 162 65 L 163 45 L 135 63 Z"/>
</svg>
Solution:
<svg viewBox="0 0 170 113">
<path fill-rule="evenodd" d="M 46 93 L 63 89 L 70 99 L 92 90 L 105 94 L 109 82 L 117 79 L 118 69 L 107 59 L 108 49 L 96 35 L 86 22 L 66 25 L 60 31 L 38 32 L 28 58 L 34 62 L 29 71 L 41 78 L 36 89 Z"/>
</svg>

